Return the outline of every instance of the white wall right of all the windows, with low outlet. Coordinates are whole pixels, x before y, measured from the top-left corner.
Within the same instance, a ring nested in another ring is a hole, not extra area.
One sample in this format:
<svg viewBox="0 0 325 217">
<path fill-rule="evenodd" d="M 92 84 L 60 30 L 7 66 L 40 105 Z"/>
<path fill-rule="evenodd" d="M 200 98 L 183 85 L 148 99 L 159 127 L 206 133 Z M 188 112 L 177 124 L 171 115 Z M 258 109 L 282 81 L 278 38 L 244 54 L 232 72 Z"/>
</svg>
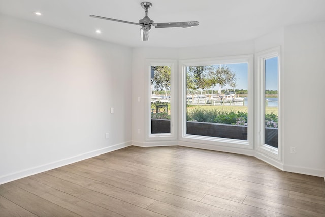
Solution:
<svg viewBox="0 0 325 217">
<path fill-rule="evenodd" d="M 284 169 L 323 177 L 324 61 L 325 22 L 284 29 Z"/>
</svg>

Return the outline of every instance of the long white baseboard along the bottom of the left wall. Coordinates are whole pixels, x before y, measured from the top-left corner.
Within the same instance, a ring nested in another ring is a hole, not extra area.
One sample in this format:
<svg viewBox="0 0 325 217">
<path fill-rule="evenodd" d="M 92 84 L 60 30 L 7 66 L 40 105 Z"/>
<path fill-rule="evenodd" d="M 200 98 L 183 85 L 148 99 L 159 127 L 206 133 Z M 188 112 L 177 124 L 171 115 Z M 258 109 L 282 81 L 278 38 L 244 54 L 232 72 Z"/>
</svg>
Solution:
<svg viewBox="0 0 325 217">
<path fill-rule="evenodd" d="M 109 147 L 89 151 L 89 152 L 86 152 L 86 153 L 83 153 L 83 154 L 79 154 L 77 156 L 73 156 L 73 157 L 70 157 L 70 158 L 61 159 L 61 160 L 51 162 L 51 163 L 48 163 L 48 164 L 44 164 L 44 165 L 40 165 L 40 166 L 37 166 L 37 167 L 29 168 L 29 169 L 26 169 L 26 170 L 21 170 L 21 171 L 11 173 L 11 174 L 6 174 L 6 175 L 3 175 L 3 176 L 0 177 L 0 184 L 4 184 L 4 183 L 14 181 L 14 180 L 17 180 L 17 179 L 20 179 L 20 178 L 24 178 L 24 177 L 27 177 L 27 176 L 30 176 L 30 175 L 45 172 L 45 171 L 48 171 L 48 170 L 51 170 L 51 169 L 62 167 L 62 166 L 72 164 L 72 163 L 75 163 L 75 162 L 78 162 L 78 161 L 82 161 L 82 160 L 85 160 L 85 159 L 88 159 L 88 158 L 99 156 L 100 154 L 108 153 L 108 152 L 111 152 L 111 151 L 114 151 L 114 150 L 118 150 L 118 149 L 121 149 L 121 148 L 131 146 L 131 145 L 132 145 L 131 141 L 123 142 L 123 143 L 120 143 L 120 144 L 115 144 L 115 145 L 111 145 Z"/>
</svg>

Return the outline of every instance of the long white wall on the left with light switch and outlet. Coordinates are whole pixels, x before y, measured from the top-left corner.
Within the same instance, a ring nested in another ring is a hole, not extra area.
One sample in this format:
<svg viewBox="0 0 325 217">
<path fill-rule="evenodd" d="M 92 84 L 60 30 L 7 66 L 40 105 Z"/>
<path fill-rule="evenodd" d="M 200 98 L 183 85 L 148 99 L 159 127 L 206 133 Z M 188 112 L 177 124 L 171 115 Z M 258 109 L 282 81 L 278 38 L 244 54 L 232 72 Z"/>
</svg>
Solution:
<svg viewBox="0 0 325 217">
<path fill-rule="evenodd" d="M 0 29 L 0 184 L 131 144 L 131 48 L 7 16 Z"/>
</svg>

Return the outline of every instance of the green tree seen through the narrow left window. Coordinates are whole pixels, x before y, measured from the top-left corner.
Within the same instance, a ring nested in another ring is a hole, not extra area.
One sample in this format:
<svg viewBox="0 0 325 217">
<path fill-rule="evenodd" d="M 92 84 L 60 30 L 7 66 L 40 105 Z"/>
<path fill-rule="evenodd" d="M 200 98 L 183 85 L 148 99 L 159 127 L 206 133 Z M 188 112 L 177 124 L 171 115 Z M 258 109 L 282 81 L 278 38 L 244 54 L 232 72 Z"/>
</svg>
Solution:
<svg viewBox="0 0 325 217">
<path fill-rule="evenodd" d="M 155 66 L 154 77 L 151 78 L 151 85 L 155 90 L 171 89 L 171 67 Z"/>
</svg>

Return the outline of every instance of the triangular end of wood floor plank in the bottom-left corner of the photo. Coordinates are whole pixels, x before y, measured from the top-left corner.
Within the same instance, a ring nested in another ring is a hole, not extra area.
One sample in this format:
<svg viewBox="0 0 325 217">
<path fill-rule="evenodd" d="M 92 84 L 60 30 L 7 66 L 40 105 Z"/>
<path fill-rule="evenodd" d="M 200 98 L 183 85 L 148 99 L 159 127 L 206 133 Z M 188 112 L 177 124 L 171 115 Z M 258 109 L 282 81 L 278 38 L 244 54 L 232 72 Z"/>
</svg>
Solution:
<svg viewBox="0 0 325 217">
<path fill-rule="evenodd" d="M 17 204 L 11 202 L 10 200 L 0 196 L 0 216 L 3 217 L 36 217 L 37 215 L 32 214 L 26 209 L 18 206 Z"/>
</svg>

